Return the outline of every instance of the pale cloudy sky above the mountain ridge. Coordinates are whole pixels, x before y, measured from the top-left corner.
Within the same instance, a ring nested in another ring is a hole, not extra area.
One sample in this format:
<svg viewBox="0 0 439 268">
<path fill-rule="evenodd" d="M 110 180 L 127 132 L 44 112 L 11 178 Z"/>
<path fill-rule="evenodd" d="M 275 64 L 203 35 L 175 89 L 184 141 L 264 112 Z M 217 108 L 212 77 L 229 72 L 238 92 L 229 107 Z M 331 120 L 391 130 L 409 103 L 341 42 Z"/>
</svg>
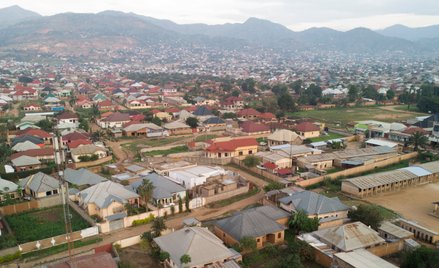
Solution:
<svg viewBox="0 0 439 268">
<path fill-rule="evenodd" d="M 439 24 L 438 0 L 0 0 L 0 7 L 11 5 L 42 15 L 119 10 L 178 23 L 220 24 L 257 17 L 293 30 Z"/>
</svg>

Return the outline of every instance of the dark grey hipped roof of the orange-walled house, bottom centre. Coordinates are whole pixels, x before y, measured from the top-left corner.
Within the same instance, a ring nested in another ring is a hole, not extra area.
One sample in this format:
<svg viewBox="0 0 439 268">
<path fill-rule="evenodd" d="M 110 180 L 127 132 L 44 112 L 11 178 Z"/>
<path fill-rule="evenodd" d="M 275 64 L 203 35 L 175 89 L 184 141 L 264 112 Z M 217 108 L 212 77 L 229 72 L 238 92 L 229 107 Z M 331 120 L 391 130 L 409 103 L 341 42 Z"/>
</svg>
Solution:
<svg viewBox="0 0 439 268">
<path fill-rule="evenodd" d="M 266 211 L 264 208 L 247 209 L 238 212 L 233 216 L 218 220 L 215 222 L 215 225 L 237 241 L 246 236 L 265 236 L 286 229 L 285 226 L 277 223 L 275 218 L 269 217 L 272 213 L 272 216 L 275 217 L 281 215 L 280 212 L 275 212 L 275 209 L 277 208 L 274 208 L 273 210 L 267 209 Z M 286 213 L 280 209 L 277 210 L 281 211 L 282 214 Z M 289 215 L 288 213 L 286 214 Z"/>
</svg>

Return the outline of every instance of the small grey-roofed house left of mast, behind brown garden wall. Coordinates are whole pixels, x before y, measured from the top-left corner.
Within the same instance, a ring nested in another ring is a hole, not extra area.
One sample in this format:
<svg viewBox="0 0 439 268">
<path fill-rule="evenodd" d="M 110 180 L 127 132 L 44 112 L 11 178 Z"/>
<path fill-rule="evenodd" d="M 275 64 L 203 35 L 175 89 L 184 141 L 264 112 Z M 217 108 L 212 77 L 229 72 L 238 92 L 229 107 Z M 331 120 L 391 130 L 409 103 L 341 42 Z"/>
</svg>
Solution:
<svg viewBox="0 0 439 268">
<path fill-rule="evenodd" d="M 60 182 L 54 177 L 38 172 L 18 181 L 26 195 L 43 198 L 60 192 Z"/>
</svg>

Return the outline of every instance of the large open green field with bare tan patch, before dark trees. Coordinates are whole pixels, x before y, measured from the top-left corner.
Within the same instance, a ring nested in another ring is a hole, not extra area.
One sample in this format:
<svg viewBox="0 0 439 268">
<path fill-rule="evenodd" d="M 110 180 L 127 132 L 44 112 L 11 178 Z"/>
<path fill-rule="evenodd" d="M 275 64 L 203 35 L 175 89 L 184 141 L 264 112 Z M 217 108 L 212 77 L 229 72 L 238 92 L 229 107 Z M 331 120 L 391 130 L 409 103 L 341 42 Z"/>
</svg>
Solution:
<svg viewBox="0 0 439 268">
<path fill-rule="evenodd" d="M 403 121 L 413 118 L 422 113 L 407 111 L 406 105 L 393 106 L 391 110 L 386 106 L 370 107 L 343 107 L 326 110 L 300 111 L 289 113 L 290 116 L 312 118 L 330 125 L 346 126 L 361 120 L 378 120 L 384 122 Z M 404 110 L 404 108 L 406 110 Z"/>
</svg>

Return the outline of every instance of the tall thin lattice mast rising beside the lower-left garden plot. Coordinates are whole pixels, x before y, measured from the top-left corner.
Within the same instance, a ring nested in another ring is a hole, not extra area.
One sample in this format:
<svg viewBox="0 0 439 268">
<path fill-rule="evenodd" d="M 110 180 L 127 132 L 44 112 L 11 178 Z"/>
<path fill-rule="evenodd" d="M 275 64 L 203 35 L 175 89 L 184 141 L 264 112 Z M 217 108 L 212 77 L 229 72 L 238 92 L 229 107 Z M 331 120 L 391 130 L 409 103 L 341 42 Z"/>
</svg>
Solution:
<svg viewBox="0 0 439 268">
<path fill-rule="evenodd" d="M 71 233 L 72 233 L 72 222 L 71 222 L 71 213 L 69 206 L 69 185 L 64 179 L 64 168 L 65 168 L 65 153 L 62 144 L 62 138 L 59 135 L 59 131 L 56 130 L 56 136 L 53 140 L 53 147 L 55 152 L 55 163 L 58 174 L 59 186 L 61 190 L 61 199 L 63 204 L 63 213 L 64 213 L 64 225 L 66 231 L 66 240 L 67 240 L 67 248 L 69 251 L 69 258 L 72 257 L 73 243 L 71 241 Z"/>
</svg>

